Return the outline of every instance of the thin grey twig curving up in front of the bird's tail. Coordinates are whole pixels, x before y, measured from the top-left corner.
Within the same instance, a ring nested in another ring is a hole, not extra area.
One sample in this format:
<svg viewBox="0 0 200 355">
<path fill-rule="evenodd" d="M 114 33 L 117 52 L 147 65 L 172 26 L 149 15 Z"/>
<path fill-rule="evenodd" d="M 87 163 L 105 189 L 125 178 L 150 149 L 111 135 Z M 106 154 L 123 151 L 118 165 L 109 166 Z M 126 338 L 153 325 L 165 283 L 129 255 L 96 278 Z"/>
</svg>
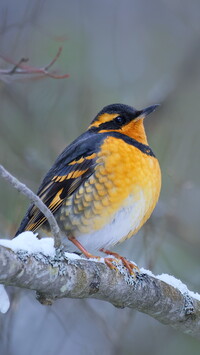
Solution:
<svg viewBox="0 0 200 355">
<path fill-rule="evenodd" d="M 29 198 L 31 202 L 33 202 L 37 208 L 44 214 L 47 218 L 52 235 L 54 236 L 54 245 L 55 248 L 59 248 L 61 245 L 61 236 L 60 229 L 56 222 L 54 215 L 48 209 L 48 207 L 42 202 L 42 200 L 33 193 L 26 185 L 22 184 L 16 177 L 11 175 L 2 165 L 0 165 L 0 175 L 8 181 L 12 186 L 14 186 L 19 192 Z"/>
</svg>

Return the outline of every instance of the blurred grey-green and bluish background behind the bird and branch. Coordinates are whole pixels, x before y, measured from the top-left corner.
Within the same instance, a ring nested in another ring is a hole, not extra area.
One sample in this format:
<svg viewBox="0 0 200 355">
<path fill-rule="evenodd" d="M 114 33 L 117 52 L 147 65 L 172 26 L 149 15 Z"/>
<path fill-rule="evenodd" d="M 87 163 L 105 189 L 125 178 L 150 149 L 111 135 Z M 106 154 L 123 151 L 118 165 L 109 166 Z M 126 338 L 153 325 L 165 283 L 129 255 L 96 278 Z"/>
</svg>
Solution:
<svg viewBox="0 0 200 355">
<path fill-rule="evenodd" d="M 161 103 L 146 119 L 162 168 L 159 204 L 114 250 L 200 292 L 199 0 L 1 0 L 0 56 L 54 64 L 67 79 L 5 75 L 0 60 L 0 163 L 36 191 L 60 151 L 105 105 Z M 53 70 L 52 68 L 52 70 Z M 23 80 L 22 80 L 23 79 Z M 0 179 L 0 234 L 15 233 L 29 202 Z M 41 306 L 9 289 L 1 355 L 199 354 L 200 343 L 130 309 L 95 300 Z"/>
</svg>

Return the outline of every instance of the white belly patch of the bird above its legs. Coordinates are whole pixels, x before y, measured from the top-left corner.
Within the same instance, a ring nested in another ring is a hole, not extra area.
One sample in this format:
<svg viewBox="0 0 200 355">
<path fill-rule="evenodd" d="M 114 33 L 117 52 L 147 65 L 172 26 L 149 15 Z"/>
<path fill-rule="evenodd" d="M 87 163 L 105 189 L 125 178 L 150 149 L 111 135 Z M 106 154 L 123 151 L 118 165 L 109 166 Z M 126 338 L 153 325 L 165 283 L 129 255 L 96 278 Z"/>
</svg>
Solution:
<svg viewBox="0 0 200 355">
<path fill-rule="evenodd" d="M 89 252 L 100 248 L 109 248 L 118 243 L 130 231 L 136 230 L 144 214 L 145 198 L 143 191 L 141 191 L 140 198 L 137 201 L 134 201 L 133 196 L 129 196 L 124 201 L 123 207 L 111 218 L 110 223 L 102 229 L 82 234 L 76 237 L 76 239 Z M 77 249 L 75 250 L 75 246 L 71 242 L 69 243 L 67 243 L 68 250 L 77 251 Z"/>
</svg>

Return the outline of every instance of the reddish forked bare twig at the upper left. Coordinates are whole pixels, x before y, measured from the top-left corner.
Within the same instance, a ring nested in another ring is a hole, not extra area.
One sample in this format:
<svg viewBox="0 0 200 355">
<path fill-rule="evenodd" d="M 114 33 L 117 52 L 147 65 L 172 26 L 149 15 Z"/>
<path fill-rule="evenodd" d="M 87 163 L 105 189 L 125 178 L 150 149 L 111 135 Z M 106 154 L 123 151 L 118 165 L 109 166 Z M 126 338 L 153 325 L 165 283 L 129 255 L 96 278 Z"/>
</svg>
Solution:
<svg viewBox="0 0 200 355">
<path fill-rule="evenodd" d="M 51 60 L 51 62 L 44 67 L 34 67 L 27 65 L 26 63 L 29 61 L 28 58 L 21 58 L 17 63 L 12 61 L 11 59 L 0 55 L 6 63 L 10 64 L 10 68 L 8 69 L 0 69 L 0 79 L 4 82 L 9 82 L 11 80 L 21 79 L 32 79 L 32 78 L 43 78 L 43 77 L 50 77 L 53 79 L 65 79 L 69 77 L 69 74 L 57 74 L 56 71 L 49 71 L 53 64 L 58 60 L 62 53 L 62 47 L 58 49 L 55 57 Z"/>
</svg>

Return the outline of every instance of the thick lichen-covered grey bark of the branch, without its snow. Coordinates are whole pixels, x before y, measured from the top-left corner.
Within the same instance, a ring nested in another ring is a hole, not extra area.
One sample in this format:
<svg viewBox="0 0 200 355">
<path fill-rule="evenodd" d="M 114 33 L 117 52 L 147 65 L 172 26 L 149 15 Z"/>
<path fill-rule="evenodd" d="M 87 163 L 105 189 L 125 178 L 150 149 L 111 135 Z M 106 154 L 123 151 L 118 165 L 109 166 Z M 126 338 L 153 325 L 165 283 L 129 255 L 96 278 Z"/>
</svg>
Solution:
<svg viewBox="0 0 200 355">
<path fill-rule="evenodd" d="M 200 302 L 146 273 L 124 277 L 101 262 L 0 246 L 0 283 L 35 290 L 45 304 L 64 297 L 96 298 L 134 308 L 200 339 Z"/>
</svg>

